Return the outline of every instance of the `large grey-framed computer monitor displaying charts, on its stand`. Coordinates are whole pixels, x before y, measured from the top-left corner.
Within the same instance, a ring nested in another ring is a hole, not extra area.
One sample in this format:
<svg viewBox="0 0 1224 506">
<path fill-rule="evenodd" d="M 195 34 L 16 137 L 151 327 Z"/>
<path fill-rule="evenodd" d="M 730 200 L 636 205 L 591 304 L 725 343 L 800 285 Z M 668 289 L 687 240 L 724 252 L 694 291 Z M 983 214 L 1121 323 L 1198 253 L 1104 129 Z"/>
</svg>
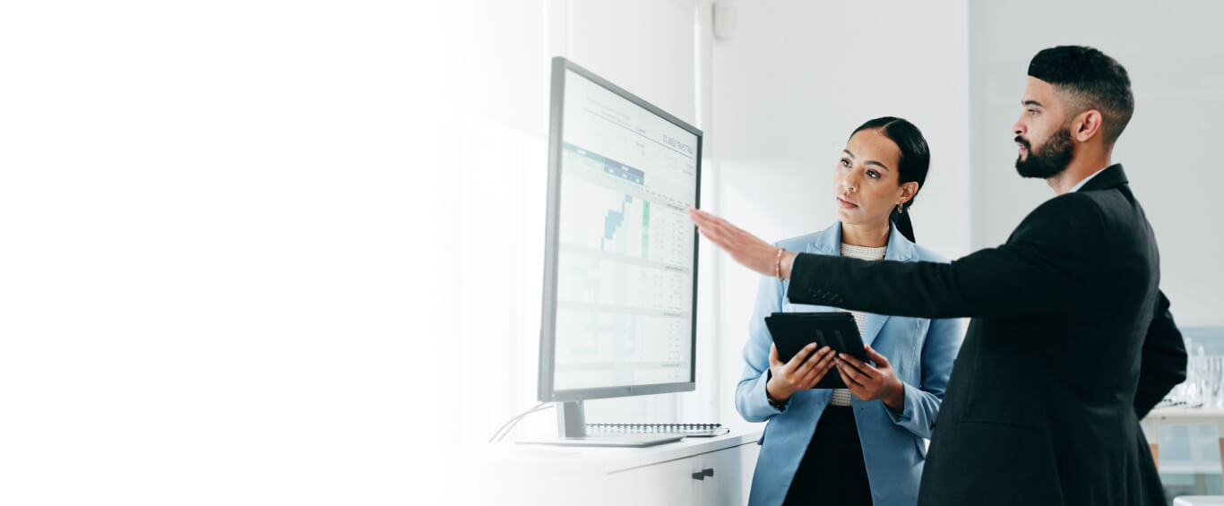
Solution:
<svg viewBox="0 0 1224 506">
<path fill-rule="evenodd" d="M 548 141 L 539 397 L 591 442 L 581 401 L 695 389 L 701 131 L 556 57 Z"/>
</svg>

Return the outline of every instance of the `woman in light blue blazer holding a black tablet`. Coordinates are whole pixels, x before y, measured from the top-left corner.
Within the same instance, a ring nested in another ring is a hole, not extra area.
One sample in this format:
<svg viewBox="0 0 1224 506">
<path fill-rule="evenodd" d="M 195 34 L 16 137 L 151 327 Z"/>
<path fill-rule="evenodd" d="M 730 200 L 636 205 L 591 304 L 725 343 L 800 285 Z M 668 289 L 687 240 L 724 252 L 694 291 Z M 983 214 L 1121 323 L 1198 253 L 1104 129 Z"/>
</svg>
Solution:
<svg viewBox="0 0 1224 506">
<path fill-rule="evenodd" d="M 908 121 L 863 123 L 834 167 L 837 222 L 775 246 L 864 260 L 947 262 L 914 244 L 906 213 L 929 163 L 927 141 Z M 805 362 L 808 352 L 782 363 L 765 317 L 838 310 L 792 304 L 788 284 L 761 279 L 736 389 L 741 416 L 769 420 L 749 504 L 917 504 L 924 438 L 930 438 L 960 347 L 960 323 L 852 312 L 874 365 L 814 345 Z M 813 389 L 826 374 L 840 375 L 848 389 Z"/>
</svg>

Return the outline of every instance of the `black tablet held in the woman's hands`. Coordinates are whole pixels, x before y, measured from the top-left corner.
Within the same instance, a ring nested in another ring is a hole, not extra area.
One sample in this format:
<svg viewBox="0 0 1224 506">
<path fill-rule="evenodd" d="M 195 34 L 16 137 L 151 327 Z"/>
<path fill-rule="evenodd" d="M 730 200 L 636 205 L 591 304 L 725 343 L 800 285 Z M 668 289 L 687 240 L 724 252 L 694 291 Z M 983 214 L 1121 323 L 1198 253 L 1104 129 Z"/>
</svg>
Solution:
<svg viewBox="0 0 1224 506">
<path fill-rule="evenodd" d="M 810 342 L 816 343 L 816 350 L 829 346 L 835 352 L 868 362 L 863 337 L 858 334 L 854 315 L 849 313 L 774 313 L 765 317 L 765 326 L 782 362 L 788 362 Z M 846 384 L 836 370 L 829 369 L 814 387 L 845 389 Z"/>
</svg>

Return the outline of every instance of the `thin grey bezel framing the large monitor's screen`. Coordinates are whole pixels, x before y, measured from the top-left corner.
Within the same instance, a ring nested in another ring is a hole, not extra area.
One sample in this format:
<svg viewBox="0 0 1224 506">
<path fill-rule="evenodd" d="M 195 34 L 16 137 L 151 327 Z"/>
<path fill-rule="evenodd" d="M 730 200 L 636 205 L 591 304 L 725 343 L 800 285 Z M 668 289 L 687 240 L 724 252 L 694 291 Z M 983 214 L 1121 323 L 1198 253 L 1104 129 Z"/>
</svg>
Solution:
<svg viewBox="0 0 1224 506">
<path fill-rule="evenodd" d="M 688 122 L 659 109 L 654 104 L 643 100 L 638 95 L 612 84 L 607 79 L 596 76 L 591 71 L 569 61 L 565 57 L 552 59 L 552 79 L 550 92 L 550 117 L 548 117 L 548 214 L 547 229 L 545 231 L 545 268 L 543 268 L 543 310 L 540 326 L 540 364 L 539 364 L 539 400 L 541 402 L 583 401 L 590 398 L 627 397 L 651 394 L 671 394 L 696 390 L 696 307 L 698 307 L 698 231 L 693 226 L 693 310 L 690 312 L 690 346 L 689 346 L 689 379 L 688 381 L 659 383 L 647 385 L 602 386 L 591 389 L 556 390 L 554 358 L 556 358 L 556 321 L 557 321 L 557 254 L 559 246 L 559 209 L 561 209 L 561 156 L 562 156 L 562 121 L 564 116 L 565 98 L 565 72 L 586 78 L 595 84 L 629 100 L 630 103 L 646 109 L 668 122 L 696 136 L 696 196 L 693 207 L 700 207 L 701 199 L 701 148 L 704 136 L 700 130 Z"/>
</svg>

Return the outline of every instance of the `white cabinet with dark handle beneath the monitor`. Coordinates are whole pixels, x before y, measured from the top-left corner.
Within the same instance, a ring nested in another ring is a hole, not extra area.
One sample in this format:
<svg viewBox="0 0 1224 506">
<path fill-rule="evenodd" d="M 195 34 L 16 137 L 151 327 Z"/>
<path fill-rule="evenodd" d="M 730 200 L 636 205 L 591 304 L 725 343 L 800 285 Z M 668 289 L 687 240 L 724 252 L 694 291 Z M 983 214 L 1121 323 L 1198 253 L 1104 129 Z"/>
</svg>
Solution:
<svg viewBox="0 0 1224 506">
<path fill-rule="evenodd" d="M 748 504 L 760 435 L 760 428 L 732 428 L 717 438 L 644 449 L 485 445 L 470 449 L 469 468 L 481 479 L 466 495 L 472 504 L 532 506 L 742 506 Z"/>
</svg>

